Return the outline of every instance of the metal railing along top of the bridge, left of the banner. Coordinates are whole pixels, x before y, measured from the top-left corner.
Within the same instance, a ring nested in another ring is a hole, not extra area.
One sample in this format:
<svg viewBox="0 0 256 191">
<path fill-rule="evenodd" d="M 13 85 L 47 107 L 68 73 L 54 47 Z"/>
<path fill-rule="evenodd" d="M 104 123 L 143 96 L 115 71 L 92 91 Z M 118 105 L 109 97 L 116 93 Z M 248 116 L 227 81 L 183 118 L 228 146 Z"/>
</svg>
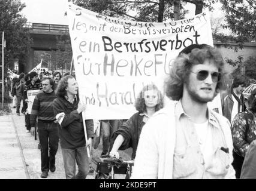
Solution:
<svg viewBox="0 0 256 191">
<path fill-rule="evenodd" d="M 68 25 L 62 24 L 26 23 L 25 27 L 31 30 L 68 32 Z"/>
</svg>

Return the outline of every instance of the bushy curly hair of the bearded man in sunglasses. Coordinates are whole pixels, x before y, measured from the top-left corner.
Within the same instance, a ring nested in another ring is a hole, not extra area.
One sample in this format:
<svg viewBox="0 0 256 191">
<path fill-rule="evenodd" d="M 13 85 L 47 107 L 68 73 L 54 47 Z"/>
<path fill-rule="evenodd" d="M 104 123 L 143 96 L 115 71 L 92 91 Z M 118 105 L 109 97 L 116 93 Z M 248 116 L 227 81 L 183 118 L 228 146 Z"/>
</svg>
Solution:
<svg viewBox="0 0 256 191">
<path fill-rule="evenodd" d="M 189 54 L 180 54 L 170 69 L 170 75 L 165 81 L 166 96 L 172 100 L 179 100 L 183 96 L 183 84 L 188 80 L 192 66 L 203 64 L 206 60 L 212 60 L 221 73 L 219 81 L 216 85 L 215 96 L 220 90 L 225 90 L 225 80 L 227 72 L 224 70 L 224 60 L 221 53 L 216 48 L 204 46 L 203 48 L 194 48 Z"/>
</svg>

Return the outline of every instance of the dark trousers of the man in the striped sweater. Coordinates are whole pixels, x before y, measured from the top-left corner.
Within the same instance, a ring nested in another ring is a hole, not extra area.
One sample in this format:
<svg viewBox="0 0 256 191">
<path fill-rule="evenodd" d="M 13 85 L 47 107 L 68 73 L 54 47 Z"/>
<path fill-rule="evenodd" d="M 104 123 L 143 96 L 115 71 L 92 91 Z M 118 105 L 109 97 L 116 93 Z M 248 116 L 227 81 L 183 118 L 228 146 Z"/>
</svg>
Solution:
<svg viewBox="0 0 256 191">
<path fill-rule="evenodd" d="M 55 166 L 55 155 L 59 143 L 58 125 L 55 122 L 38 121 L 38 137 L 41 144 L 41 171 L 49 172 L 49 167 Z"/>
</svg>

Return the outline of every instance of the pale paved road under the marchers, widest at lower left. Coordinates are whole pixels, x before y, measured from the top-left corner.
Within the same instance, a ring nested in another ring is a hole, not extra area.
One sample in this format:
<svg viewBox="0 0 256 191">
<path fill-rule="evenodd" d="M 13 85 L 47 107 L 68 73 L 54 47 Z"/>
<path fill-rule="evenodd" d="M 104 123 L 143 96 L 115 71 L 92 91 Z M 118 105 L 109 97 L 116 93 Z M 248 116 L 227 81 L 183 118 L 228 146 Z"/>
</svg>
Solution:
<svg viewBox="0 0 256 191">
<path fill-rule="evenodd" d="M 38 140 L 30 133 L 26 133 L 25 116 L 16 115 L 16 109 L 11 108 L 10 115 L 0 116 L 0 178 L 32 178 L 40 179 L 41 159 L 37 148 Z M 91 158 L 99 157 L 102 150 L 102 141 L 98 149 L 92 149 Z M 120 152 L 125 160 L 130 159 L 131 149 Z M 90 160 L 91 161 L 91 160 Z M 124 178 L 125 175 L 116 175 L 115 178 Z M 56 171 L 49 172 L 49 179 L 65 179 L 65 171 L 59 145 L 56 153 Z M 90 173 L 87 179 L 94 178 Z"/>
</svg>

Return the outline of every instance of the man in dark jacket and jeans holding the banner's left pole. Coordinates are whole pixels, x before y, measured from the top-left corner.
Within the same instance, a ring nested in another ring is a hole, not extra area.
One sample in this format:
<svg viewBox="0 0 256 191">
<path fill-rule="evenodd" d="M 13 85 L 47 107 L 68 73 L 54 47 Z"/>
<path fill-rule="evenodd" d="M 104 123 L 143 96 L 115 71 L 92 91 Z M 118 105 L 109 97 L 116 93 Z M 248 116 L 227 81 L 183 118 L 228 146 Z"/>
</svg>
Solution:
<svg viewBox="0 0 256 191">
<path fill-rule="evenodd" d="M 89 161 L 86 147 L 91 150 L 94 135 L 93 120 L 86 120 L 88 143 L 85 142 L 85 130 L 81 113 L 85 104 L 79 104 L 77 97 L 78 85 L 76 79 L 65 76 L 59 81 L 56 90 L 57 98 L 53 101 L 56 119 L 59 123 L 59 138 L 66 178 L 85 179 L 89 171 Z M 76 162 L 79 168 L 76 174 Z"/>
</svg>

